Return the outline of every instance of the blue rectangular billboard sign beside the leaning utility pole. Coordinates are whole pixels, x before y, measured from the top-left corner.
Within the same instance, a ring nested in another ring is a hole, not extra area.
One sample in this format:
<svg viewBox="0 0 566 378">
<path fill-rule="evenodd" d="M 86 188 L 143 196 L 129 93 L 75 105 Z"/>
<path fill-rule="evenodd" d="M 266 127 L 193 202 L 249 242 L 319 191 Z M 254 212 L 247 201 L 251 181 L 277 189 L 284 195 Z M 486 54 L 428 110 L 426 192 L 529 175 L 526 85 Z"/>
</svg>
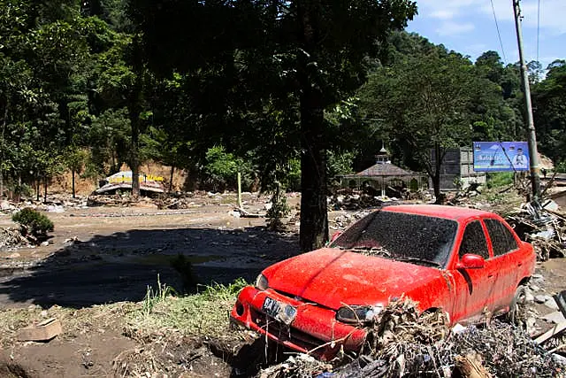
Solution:
<svg viewBox="0 0 566 378">
<path fill-rule="evenodd" d="M 526 142 L 473 142 L 475 172 L 516 172 L 529 170 Z"/>
</svg>

